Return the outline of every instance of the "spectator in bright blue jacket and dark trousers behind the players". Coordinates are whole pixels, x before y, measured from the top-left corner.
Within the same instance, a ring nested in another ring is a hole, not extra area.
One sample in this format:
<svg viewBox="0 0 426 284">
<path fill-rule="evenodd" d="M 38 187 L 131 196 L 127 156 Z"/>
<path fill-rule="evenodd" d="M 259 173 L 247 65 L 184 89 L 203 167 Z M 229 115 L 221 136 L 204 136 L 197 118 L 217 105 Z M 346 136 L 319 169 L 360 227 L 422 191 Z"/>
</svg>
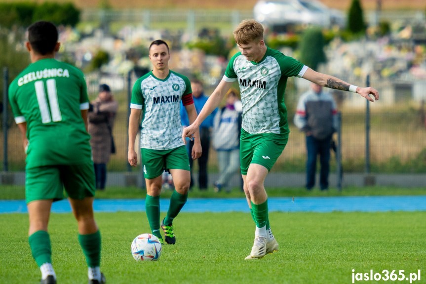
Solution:
<svg viewBox="0 0 426 284">
<path fill-rule="evenodd" d="M 193 90 L 194 105 L 197 110 L 197 114 L 200 113 L 202 107 L 206 103 L 208 97 L 204 95 L 203 84 L 201 81 L 192 80 L 191 88 Z M 202 155 L 197 159 L 198 161 L 198 186 L 200 190 L 207 190 L 207 161 L 209 157 L 210 149 L 210 130 L 213 127 L 213 119 L 216 115 L 217 109 L 215 109 L 200 125 L 200 140 Z M 190 123 L 188 120 L 188 115 L 185 111 L 185 108 L 181 106 L 181 120 L 184 127 L 187 127 Z M 192 153 L 194 146 L 194 141 L 190 141 L 188 153 Z M 189 154 L 191 155 L 191 154 Z M 193 159 L 190 157 L 190 166 L 191 166 L 191 186 L 190 189 L 194 186 L 193 179 Z"/>
</svg>

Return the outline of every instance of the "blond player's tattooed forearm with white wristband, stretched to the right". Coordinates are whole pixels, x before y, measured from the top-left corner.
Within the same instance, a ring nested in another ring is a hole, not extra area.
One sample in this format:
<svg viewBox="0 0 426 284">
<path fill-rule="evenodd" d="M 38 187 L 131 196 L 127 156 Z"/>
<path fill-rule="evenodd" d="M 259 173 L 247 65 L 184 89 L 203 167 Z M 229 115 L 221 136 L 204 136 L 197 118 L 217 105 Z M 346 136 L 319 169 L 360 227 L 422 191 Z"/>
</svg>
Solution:
<svg viewBox="0 0 426 284">
<path fill-rule="evenodd" d="M 377 101 L 379 99 L 379 92 L 372 87 L 357 87 L 336 77 L 313 71 L 310 68 L 308 68 L 302 78 L 320 86 L 358 93 L 371 102 L 374 102 L 375 100 Z M 373 95 L 374 100 L 370 97 L 370 95 Z"/>
</svg>

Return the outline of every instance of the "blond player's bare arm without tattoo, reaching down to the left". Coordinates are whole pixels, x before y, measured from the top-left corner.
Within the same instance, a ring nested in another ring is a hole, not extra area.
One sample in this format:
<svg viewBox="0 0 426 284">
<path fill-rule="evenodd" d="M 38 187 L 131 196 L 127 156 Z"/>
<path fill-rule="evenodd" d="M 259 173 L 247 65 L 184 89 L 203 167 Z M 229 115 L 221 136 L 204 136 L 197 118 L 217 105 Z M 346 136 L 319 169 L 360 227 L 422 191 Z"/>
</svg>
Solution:
<svg viewBox="0 0 426 284">
<path fill-rule="evenodd" d="M 216 87 L 216 89 L 213 91 L 211 96 L 208 98 L 207 102 L 203 106 L 201 112 L 198 114 L 197 119 L 188 127 L 184 128 L 184 131 L 182 133 L 182 139 L 184 140 L 184 143 L 186 144 L 185 138 L 191 137 L 195 134 L 195 131 L 199 129 L 199 126 L 201 122 L 203 122 L 212 112 L 214 109 L 218 107 L 224 96 L 226 95 L 226 92 L 229 90 L 229 88 L 232 86 L 232 82 L 227 81 L 220 81 L 219 85 Z"/>
</svg>

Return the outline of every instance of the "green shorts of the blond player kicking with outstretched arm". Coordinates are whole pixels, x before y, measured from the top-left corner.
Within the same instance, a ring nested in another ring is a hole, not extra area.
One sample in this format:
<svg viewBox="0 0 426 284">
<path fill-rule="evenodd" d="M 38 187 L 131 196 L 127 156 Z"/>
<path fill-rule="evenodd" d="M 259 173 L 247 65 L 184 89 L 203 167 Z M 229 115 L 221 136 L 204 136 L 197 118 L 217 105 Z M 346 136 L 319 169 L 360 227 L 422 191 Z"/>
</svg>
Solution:
<svg viewBox="0 0 426 284">
<path fill-rule="evenodd" d="M 288 133 L 249 134 L 241 128 L 239 155 L 241 174 L 246 175 L 251 163 L 261 164 L 271 170 L 287 145 Z"/>
</svg>

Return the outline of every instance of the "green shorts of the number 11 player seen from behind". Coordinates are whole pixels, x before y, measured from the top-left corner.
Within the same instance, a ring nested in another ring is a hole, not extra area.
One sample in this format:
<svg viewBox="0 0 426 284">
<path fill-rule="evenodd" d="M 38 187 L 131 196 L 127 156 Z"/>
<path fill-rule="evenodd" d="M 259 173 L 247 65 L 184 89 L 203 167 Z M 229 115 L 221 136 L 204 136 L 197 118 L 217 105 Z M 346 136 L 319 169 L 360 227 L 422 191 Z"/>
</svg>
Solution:
<svg viewBox="0 0 426 284">
<path fill-rule="evenodd" d="M 75 165 L 47 165 L 26 169 L 25 200 L 53 199 L 66 195 L 72 199 L 95 196 L 95 171 L 93 162 Z"/>
</svg>

